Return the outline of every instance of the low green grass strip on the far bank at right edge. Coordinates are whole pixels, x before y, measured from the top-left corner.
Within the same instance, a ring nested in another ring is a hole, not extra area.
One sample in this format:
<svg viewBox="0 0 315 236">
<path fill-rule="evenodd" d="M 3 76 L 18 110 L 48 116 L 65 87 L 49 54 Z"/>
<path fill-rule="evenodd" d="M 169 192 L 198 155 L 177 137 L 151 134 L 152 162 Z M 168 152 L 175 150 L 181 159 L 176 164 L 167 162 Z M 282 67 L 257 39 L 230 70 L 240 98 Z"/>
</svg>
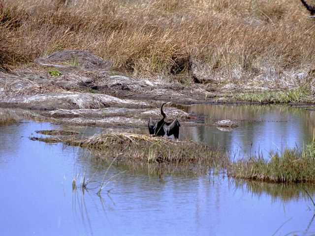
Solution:
<svg viewBox="0 0 315 236">
<path fill-rule="evenodd" d="M 236 99 L 259 103 L 315 102 L 310 86 L 299 86 L 284 91 L 246 92 L 237 95 Z"/>
</svg>

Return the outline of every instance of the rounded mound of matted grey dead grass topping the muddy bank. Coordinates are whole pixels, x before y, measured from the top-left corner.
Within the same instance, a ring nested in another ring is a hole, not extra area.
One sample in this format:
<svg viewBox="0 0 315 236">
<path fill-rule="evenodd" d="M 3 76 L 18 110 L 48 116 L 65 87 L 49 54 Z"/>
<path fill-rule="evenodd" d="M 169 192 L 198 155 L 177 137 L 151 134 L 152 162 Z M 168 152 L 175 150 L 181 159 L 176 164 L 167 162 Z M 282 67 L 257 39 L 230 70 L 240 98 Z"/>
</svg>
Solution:
<svg viewBox="0 0 315 236">
<path fill-rule="evenodd" d="M 85 69 L 108 69 L 111 63 L 86 50 L 63 50 L 35 59 L 41 65 L 56 67 L 82 67 Z"/>
</svg>

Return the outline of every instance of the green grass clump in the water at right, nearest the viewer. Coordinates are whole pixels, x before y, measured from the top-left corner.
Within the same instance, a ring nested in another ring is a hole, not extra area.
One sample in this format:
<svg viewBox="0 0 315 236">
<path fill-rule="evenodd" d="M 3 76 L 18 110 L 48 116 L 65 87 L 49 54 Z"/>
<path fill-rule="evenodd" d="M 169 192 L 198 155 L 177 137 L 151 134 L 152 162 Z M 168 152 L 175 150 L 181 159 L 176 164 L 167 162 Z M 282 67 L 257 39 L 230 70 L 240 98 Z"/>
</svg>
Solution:
<svg viewBox="0 0 315 236">
<path fill-rule="evenodd" d="M 281 155 L 270 154 L 231 164 L 230 175 L 271 182 L 315 182 L 315 139 L 304 148 L 286 148 Z"/>
</svg>

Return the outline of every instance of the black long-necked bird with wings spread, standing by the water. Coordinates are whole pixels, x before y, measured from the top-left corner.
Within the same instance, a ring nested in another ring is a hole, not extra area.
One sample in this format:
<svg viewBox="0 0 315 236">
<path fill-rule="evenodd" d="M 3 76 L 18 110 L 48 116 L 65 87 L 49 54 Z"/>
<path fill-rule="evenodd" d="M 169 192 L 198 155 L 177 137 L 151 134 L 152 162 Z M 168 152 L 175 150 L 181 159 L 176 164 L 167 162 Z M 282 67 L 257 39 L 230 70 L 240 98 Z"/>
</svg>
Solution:
<svg viewBox="0 0 315 236">
<path fill-rule="evenodd" d="M 166 122 L 166 115 L 163 112 L 163 106 L 168 105 L 171 102 L 163 103 L 161 106 L 161 115 L 163 118 L 155 123 L 152 118 L 150 117 L 148 122 L 149 133 L 154 134 L 155 136 L 167 136 L 174 135 L 174 138 L 178 140 L 179 136 L 179 127 L 181 124 L 178 122 L 177 119 L 174 119 L 172 122 Z"/>
</svg>

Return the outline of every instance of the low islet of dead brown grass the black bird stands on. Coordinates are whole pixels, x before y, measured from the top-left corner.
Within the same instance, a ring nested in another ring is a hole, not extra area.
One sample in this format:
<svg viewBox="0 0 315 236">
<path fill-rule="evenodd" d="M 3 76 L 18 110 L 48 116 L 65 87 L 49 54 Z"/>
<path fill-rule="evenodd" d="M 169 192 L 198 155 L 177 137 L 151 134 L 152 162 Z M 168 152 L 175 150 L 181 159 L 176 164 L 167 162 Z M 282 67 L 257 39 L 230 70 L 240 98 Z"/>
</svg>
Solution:
<svg viewBox="0 0 315 236">
<path fill-rule="evenodd" d="M 220 148 L 205 144 L 176 142 L 171 139 L 130 133 L 101 133 L 89 138 L 46 137 L 32 138 L 42 142 L 63 142 L 68 145 L 88 148 L 101 160 L 122 162 L 131 166 L 172 166 L 172 171 L 205 171 L 221 169 L 228 163 L 228 157 Z M 169 169 L 170 170 L 170 169 Z"/>
</svg>

